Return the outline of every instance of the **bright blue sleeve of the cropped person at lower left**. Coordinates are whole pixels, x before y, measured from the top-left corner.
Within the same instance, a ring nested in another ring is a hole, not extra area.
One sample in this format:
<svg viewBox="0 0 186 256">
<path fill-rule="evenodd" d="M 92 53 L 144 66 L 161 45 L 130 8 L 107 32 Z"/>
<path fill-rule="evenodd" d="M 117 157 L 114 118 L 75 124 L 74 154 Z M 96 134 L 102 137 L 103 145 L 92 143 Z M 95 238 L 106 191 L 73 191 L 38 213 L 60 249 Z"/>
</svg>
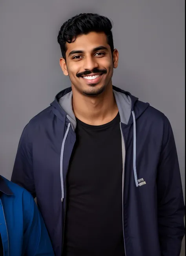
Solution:
<svg viewBox="0 0 186 256">
<path fill-rule="evenodd" d="M 23 255 L 54 256 L 53 248 L 41 213 L 33 197 L 24 191 L 24 238 Z"/>
</svg>

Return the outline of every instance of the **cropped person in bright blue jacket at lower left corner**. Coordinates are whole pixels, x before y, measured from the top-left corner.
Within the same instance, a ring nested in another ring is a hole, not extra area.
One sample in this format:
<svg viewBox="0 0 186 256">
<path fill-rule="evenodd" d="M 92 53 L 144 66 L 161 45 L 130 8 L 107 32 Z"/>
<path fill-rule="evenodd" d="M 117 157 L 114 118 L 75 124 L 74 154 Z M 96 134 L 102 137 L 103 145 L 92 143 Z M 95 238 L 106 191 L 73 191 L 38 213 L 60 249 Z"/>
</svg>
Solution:
<svg viewBox="0 0 186 256">
<path fill-rule="evenodd" d="M 0 255 L 54 256 L 33 197 L 0 175 Z"/>
</svg>

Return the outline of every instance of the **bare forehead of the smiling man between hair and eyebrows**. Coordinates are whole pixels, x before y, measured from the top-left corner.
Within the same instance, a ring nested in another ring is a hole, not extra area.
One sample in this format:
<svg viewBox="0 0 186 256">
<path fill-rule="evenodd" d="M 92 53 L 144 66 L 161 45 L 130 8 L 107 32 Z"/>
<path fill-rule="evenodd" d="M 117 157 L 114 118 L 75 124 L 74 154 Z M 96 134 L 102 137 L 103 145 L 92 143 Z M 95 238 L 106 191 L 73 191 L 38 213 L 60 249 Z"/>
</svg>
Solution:
<svg viewBox="0 0 186 256">
<path fill-rule="evenodd" d="M 84 52 L 88 52 L 100 45 L 106 46 L 106 48 L 109 47 L 107 36 L 103 32 L 90 32 L 87 35 L 78 35 L 73 43 L 66 43 L 66 54 L 72 50 L 82 50 Z"/>
</svg>

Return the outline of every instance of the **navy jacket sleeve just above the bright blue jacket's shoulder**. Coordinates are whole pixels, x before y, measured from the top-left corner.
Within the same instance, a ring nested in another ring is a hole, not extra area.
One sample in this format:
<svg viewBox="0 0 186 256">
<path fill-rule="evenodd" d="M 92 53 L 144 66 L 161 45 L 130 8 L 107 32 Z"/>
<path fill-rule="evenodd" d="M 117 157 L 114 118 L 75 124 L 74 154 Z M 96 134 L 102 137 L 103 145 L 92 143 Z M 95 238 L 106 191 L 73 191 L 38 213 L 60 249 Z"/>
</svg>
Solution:
<svg viewBox="0 0 186 256">
<path fill-rule="evenodd" d="M 24 187 L 35 198 L 35 182 L 33 177 L 32 143 L 28 134 L 28 124 L 24 128 L 15 158 L 11 181 Z"/>
</svg>

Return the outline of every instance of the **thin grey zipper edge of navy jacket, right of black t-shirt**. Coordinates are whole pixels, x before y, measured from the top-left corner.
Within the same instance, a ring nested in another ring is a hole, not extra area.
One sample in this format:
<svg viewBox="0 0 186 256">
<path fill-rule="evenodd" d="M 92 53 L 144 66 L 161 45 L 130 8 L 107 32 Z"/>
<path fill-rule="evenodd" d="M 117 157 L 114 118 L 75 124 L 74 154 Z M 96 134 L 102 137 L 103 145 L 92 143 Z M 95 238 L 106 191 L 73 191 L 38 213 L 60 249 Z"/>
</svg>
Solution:
<svg viewBox="0 0 186 256">
<path fill-rule="evenodd" d="M 120 132 L 121 132 L 121 137 L 122 137 L 122 161 L 123 161 L 123 169 L 122 169 L 122 224 L 123 224 L 123 240 L 124 240 L 124 250 L 125 250 L 125 256 L 127 256 L 126 254 L 126 245 L 125 245 L 125 235 L 124 235 L 124 207 L 123 207 L 123 199 L 124 199 L 124 174 L 125 174 L 125 158 L 123 158 L 123 151 L 125 149 L 125 155 L 126 155 L 126 145 L 125 145 L 125 140 L 124 140 L 124 135 L 122 132 L 122 128 L 121 128 L 121 122 L 120 122 Z M 123 145 L 125 148 L 123 148 Z"/>
</svg>

